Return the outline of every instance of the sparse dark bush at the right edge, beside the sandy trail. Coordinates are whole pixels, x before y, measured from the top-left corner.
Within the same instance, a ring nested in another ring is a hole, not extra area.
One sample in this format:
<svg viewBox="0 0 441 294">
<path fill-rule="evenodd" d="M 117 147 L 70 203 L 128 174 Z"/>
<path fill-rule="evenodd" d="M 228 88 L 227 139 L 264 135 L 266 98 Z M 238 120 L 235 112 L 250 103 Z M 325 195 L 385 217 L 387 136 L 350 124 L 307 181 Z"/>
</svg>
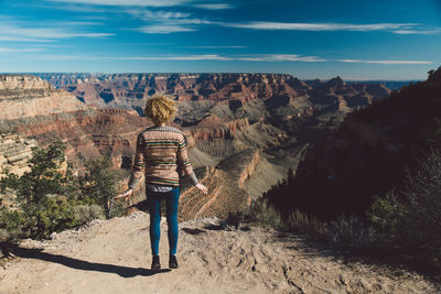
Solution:
<svg viewBox="0 0 441 294">
<path fill-rule="evenodd" d="M 426 261 L 441 260 L 441 154 L 429 151 L 413 171 L 406 188 L 376 197 L 368 216 L 378 241 Z"/>
</svg>

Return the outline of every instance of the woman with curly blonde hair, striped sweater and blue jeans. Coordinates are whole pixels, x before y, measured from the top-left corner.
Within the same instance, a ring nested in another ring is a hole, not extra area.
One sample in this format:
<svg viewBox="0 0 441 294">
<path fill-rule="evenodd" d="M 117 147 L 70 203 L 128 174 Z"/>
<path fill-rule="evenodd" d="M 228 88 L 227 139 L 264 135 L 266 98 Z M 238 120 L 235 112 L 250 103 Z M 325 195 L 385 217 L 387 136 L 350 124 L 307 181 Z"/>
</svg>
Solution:
<svg viewBox="0 0 441 294">
<path fill-rule="evenodd" d="M 182 170 L 191 176 L 196 188 L 204 194 L 208 193 L 207 187 L 197 182 L 190 164 L 185 135 L 181 130 L 165 126 L 174 118 L 176 105 L 176 101 L 165 95 L 155 95 L 147 100 L 144 113 L 153 121 L 154 126 L 143 130 L 137 138 L 137 152 L 129 189 L 123 194 L 126 200 L 132 195 L 144 168 L 146 195 L 149 199 L 150 213 L 151 269 L 153 271 L 161 269 L 159 259 L 161 198 L 165 198 L 166 206 L 169 266 L 178 269 L 178 204 Z"/>
</svg>

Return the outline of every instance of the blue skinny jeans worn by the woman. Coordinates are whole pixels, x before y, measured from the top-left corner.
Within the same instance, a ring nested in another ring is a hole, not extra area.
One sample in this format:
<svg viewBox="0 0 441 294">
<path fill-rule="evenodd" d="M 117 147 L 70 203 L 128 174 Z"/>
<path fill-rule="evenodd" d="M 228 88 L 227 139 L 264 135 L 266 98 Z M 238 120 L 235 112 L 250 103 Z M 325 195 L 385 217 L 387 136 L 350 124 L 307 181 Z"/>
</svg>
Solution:
<svg viewBox="0 0 441 294">
<path fill-rule="evenodd" d="M 170 254 L 176 254 L 178 247 L 178 204 L 180 197 L 180 187 L 170 192 L 153 192 L 147 188 L 147 198 L 149 199 L 150 213 L 150 244 L 152 255 L 159 255 L 159 240 L 161 238 L 161 199 L 165 198 L 166 224 Z"/>
</svg>

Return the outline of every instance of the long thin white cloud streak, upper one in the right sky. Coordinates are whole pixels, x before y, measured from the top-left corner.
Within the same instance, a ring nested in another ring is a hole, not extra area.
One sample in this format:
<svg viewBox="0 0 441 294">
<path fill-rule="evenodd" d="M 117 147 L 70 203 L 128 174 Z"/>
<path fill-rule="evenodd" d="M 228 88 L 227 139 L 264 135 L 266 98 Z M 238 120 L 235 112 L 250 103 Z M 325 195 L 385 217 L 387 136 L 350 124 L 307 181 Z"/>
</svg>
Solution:
<svg viewBox="0 0 441 294">
<path fill-rule="evenodd" d="M 421 28 L 418 23 L 290 23 L 254 21 L 245 23 L 222 23 L 223 26 L 250 30 L 286 30 L 286 31 L 390 31 L 392 33 L 427 33 L 438 32 L 439 29 Z"/>
</svg>

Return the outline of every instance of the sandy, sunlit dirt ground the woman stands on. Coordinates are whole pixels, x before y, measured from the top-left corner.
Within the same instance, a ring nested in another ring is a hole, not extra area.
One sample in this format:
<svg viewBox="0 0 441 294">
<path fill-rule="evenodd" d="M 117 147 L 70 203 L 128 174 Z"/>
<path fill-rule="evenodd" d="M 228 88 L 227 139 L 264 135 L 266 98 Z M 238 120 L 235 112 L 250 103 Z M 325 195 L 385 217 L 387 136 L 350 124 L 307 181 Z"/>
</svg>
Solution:
<svg viewBox="0 0 441 294">
<path fill-rule="evenodd" d="M 163 220 L 158 273 L 150 271 L 143 213 L 95 220 L 49 241 L 24 240 L 19 258 L 0 270 L 0 293 L 440 293 L 416 273 L 347 265 L 335 252 L 308 248 L 300 237 L 205 228 L 215 222 L 180 224 L 180 268 L 169 270 Z"/>
</svg>

